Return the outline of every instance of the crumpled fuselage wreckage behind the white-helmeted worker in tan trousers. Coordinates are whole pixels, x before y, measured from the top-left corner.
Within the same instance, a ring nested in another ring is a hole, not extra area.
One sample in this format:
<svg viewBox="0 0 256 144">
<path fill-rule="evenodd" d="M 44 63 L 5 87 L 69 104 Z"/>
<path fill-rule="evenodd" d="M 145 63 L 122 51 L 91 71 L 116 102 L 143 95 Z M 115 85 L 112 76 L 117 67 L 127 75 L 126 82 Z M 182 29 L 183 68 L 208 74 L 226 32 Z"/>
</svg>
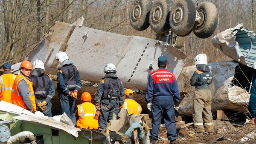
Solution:
<svg viewBox="0 0 256 144">
<path fill-rule="evenodd" d="M 247 103 L 250 93 L 246 89 L 232 84 L 235 76 L 236 62 L 212 62 L 213 82 L 212 111 L 228 109 L 240 112 L 247 112 Z M 192 116 L 193 97 L 195 87 L 190 85 L 190 78 L 196 70 L 195 65 L 183 68 L 180 77 L 177 79 L 180 91 L 186 91 L 186 97 L 180 104 L 179 113 L 185 116 Z"/>
</svg>

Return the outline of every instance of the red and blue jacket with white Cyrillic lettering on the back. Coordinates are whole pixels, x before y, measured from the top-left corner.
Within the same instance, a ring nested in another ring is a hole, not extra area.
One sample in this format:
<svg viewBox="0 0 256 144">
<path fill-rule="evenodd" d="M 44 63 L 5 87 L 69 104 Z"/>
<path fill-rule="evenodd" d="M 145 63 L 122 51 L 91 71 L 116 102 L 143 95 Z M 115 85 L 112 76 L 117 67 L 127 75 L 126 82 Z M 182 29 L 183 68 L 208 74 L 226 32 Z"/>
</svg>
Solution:
<svg viewBox="0 0 256 144">
<path fill-rule="evenodd" d="M 155 96 L 173 96 L 175 104 L 180 101 L 180 92 L 175 76 L 165 68 L 152 71 L 148 76 L 145 101 L 151 102 L 151 97 Z"/>
</svg>

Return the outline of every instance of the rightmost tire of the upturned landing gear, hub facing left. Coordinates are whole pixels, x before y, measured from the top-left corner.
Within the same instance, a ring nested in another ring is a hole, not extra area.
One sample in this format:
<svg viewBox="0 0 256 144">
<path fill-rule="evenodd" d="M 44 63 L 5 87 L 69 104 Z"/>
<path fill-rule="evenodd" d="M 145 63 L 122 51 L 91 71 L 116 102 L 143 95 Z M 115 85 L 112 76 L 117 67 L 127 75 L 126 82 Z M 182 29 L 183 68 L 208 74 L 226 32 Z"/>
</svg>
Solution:
<svg viewBox="0 0 256 144">
<path fill-rule="evenodd" d="M 193 32 L 202 39 L 210 37 L 217 26 L 218 11 L 216 6 L 211 2 L 202 2 L 197 6 L 197 11 L 201 15 L 202 20 L 195 22 Z"/>
</svg>

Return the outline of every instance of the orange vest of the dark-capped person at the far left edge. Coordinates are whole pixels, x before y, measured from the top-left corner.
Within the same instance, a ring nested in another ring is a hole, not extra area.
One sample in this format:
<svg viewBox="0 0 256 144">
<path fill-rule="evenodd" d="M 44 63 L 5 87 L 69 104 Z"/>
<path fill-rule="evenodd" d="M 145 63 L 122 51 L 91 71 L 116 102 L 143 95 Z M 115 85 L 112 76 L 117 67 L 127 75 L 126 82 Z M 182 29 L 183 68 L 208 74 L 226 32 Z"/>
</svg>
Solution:
<svg viewBox="0 0 256 144">
<path fill-rule="evenodd" d="M 16 75 L 6 73 L 0 76 L 0 99 L 1 101 L 11 103 L 12 85 Z"/>
</svg>

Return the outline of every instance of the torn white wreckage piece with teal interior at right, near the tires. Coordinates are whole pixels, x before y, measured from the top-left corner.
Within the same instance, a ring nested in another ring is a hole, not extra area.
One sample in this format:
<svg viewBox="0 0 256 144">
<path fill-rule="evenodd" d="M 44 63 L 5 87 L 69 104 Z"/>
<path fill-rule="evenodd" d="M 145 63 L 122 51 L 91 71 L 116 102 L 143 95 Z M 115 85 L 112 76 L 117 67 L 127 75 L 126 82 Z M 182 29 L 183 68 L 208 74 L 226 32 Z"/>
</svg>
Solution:
<svg viewBox="0 0 256 144">
<path fill-rule="evenodd" d="M 256 34 L 242 24 L 212 37 L 212 45 L 237 62 L 253 67 L 256 61 Z"/>
</svg>

